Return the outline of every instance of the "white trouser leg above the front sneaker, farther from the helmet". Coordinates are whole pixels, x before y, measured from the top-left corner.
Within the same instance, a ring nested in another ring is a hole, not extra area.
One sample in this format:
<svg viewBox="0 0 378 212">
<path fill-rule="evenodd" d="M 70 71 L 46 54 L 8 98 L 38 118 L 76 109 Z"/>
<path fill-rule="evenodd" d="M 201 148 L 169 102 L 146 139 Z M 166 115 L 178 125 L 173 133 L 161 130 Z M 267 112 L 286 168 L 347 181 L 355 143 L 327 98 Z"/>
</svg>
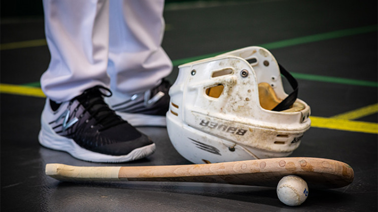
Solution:
<svg viewBox="0 0 378 212">
<path fill-rule="evenodd" d="M 51 61 L 41 87 L 62 102 L 97 84 L 109 84 L 109 2 L 44 0 L 45 31 Z"/>
</svg>

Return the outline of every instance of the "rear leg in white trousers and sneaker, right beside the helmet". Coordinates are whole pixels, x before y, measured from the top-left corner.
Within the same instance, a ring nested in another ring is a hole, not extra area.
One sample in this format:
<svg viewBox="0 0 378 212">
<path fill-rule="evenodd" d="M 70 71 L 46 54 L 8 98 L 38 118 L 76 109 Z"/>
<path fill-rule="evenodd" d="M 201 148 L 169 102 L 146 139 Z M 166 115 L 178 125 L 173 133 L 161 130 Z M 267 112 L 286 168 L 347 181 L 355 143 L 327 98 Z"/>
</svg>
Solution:
<svg viewBox="0 0 378 212">
<path fill-rule="evenodd" d="M 133 125 L 165 125 L 172 63 L 161 47 L 163 0 L 110 2 L 109 66 L 113 109 Z M 147 92 L 147 93 L 146 93 Z"/>
</svg>

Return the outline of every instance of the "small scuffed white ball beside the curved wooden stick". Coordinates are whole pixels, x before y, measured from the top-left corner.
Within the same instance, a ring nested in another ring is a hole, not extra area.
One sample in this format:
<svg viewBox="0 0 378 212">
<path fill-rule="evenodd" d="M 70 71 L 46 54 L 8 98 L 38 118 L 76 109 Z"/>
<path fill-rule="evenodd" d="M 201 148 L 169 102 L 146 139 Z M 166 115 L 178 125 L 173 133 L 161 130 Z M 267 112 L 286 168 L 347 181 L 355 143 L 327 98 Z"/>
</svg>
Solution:
<svg viewBox="0 0 378 212">
<path fill-rule="evenodd" d="M 307 183 L 295 175 L 285 176 L 278 183 L 277 195 L 280 201 L 287 205 L 300 205 L 308 196 Z"/>
</svg>

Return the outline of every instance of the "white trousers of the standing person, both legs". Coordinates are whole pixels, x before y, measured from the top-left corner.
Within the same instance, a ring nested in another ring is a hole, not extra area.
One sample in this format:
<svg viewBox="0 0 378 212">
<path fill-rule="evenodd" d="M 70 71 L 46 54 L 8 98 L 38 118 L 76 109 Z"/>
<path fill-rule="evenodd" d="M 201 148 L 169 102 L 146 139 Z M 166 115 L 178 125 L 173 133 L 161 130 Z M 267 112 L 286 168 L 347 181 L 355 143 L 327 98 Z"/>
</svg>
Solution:
<svg viewBox="0 0 378 212">
<path fill-rule="evenodd" d="M 50 63 L 47 97 L 64 102 L 96 85 L 124 94 L 157 86 L 172 70 L 161 47 L 164 0 L 43 0 Z"/>
</svg>

